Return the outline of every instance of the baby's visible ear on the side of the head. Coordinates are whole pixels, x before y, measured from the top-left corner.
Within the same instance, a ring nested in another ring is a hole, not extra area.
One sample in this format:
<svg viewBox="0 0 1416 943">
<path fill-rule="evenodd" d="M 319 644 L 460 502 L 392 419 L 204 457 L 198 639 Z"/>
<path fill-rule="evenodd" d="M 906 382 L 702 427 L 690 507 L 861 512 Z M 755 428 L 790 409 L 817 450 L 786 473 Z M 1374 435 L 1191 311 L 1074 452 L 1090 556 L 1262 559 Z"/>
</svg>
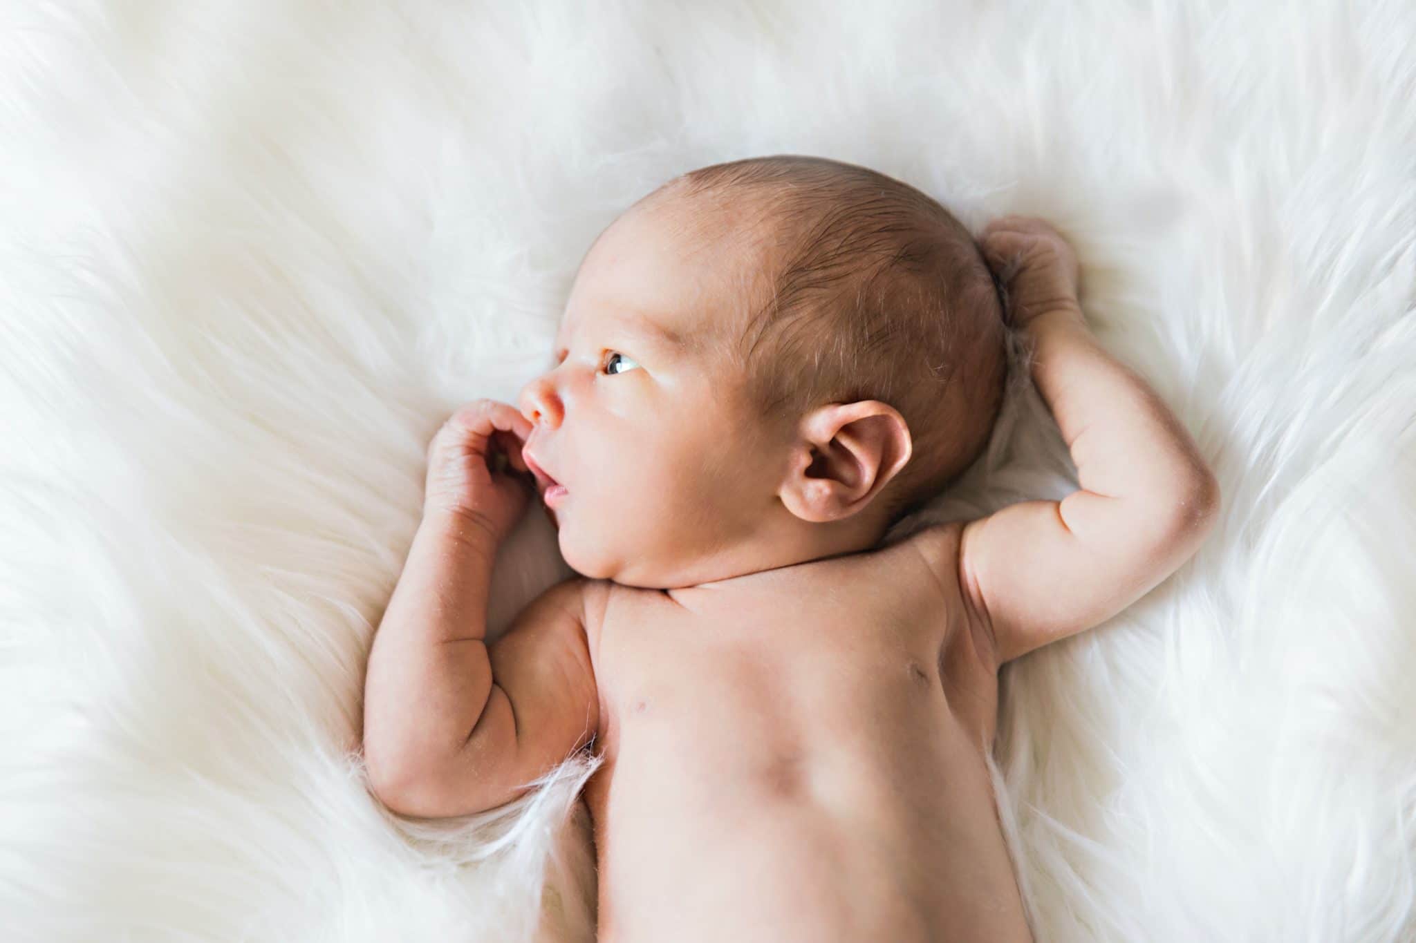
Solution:
<svg viewBox="0 0 1416 943">
<path fill-rule="evenodd" d="M 879 400 L 831 403 L 809 413 L 777 496 L 793 515 L 824 523 L 864 509 L 909 461 L 905 417 Z"/>
</svg>

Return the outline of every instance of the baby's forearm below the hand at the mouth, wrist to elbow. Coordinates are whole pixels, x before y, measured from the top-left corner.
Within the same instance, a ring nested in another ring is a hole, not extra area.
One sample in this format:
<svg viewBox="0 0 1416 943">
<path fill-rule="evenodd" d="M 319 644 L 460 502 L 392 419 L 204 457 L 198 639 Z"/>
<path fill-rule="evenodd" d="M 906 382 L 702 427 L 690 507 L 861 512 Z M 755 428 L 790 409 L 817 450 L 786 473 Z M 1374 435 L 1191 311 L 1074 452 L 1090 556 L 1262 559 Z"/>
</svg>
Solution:
<svg viewBox="0 0 1416 943">
<path fill-rule="evenodd" d="M 484 642 L 496 543 L 429 513 L 374 636 L 364 681 L 370 779 L 396 787 L 456 754 L 491 694 Z"/>
</svg>

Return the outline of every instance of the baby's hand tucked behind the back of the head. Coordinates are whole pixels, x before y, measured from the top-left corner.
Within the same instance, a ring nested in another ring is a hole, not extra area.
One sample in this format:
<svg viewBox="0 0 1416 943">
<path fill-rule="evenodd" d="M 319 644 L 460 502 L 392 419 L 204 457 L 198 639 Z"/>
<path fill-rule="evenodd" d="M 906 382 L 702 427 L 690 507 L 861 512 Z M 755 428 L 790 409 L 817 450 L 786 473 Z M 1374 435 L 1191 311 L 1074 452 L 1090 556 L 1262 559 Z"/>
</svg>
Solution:
<svg viewBox="0 0 1416 943">
<path fill-rule="evenodd" d="M 1086 324 L 1078 303 L 1076 253 L 1046 222 L 1001 216 L 984 226 L 978 247 L 1008 293 L 1008 318 L 1015 327 L 1054 311 Z"/>
</svg>

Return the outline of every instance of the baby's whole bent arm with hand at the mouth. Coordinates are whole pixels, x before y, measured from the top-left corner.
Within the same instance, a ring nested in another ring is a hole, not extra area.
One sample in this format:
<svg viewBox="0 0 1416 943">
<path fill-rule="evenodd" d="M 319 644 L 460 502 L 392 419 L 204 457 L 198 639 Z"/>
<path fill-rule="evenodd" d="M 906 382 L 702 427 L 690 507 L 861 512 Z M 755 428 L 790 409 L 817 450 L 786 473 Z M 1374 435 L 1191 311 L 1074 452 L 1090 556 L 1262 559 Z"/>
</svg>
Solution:
<svg viewBox="0 0 1416 943">
<path fill-rule="evenodd" d="M 510 802 L 598 725 L 583 580 L 551 587 L 496 642 L 484 640 L 496 550 L 525 508 L 524 486 L 487 469 L 487 445 L 494 428 L 520 438 L 523 426 L 513 407 L 480 400 L 429 448 L 423 519 L 364 683 L 370 785 L 405 816 Z M 524 468 L 518 450 L 510 457 Z"/>
</svg>

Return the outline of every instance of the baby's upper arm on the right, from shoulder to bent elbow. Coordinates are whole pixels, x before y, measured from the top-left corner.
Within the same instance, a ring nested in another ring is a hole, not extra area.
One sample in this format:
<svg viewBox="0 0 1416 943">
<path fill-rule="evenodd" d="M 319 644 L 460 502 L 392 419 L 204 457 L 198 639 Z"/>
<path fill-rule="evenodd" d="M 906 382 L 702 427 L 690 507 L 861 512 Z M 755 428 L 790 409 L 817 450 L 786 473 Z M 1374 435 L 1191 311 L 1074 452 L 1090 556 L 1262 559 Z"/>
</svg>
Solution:
<svg viewBox="0 0 1416 943">
<path fill-rule="evenodd" d="M 1121 500 L 1130 510 L 1102 503 Z M 959 585 L 1003 663 L 1089 629 L 1148 592 L 1195 551 L 1216 509 L 1208 472 L 1177 481 L 1170 498 L 1076 491 L 1061 502 L 1010 505 L 964 525 Z"/>
</svg>

